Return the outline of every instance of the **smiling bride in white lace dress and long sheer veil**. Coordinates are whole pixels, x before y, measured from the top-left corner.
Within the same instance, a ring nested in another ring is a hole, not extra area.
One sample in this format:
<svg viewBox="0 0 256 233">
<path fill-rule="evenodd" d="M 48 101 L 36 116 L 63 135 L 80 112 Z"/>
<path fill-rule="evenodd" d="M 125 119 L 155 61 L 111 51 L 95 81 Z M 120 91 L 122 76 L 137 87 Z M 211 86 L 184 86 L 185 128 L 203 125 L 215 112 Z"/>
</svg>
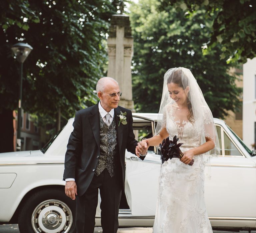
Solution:
<svg viewBox="0 0 256 233">
<path fill-rule="evenodd" d="M 153 232 L 212 232 L 204 201 L 204 167 L 219 154 L 219 141 L 212 113 L 189 69 L 165 73 L 158 117 L 156 135 L 138 146 L 156 146 L 176 135 L 184 156 L 161 164 Z"/>
</svg>

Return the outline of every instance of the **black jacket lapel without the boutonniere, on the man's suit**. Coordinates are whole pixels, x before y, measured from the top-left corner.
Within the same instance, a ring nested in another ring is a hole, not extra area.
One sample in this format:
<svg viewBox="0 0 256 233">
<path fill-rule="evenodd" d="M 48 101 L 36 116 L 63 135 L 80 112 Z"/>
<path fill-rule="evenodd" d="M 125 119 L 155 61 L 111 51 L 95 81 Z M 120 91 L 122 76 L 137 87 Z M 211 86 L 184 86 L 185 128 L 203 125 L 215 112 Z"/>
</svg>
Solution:
<svg viewBox="0 0 256 233">
<path fill-rule="evenodd" d="M 100 116 L 98 104 L 93 106 L 91 115 L 89 116 L 89 121 L 92 127 L 95 141 L 100 148 Z"/>
</svg>

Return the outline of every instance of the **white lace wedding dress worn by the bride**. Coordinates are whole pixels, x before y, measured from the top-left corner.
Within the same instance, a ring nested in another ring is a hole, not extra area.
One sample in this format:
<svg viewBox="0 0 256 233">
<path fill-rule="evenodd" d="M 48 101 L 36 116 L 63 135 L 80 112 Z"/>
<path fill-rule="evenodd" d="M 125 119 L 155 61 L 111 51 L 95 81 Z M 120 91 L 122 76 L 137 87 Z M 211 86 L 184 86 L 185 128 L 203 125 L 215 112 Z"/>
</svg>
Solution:
<svg viewBox="0 0 256 233">
<path fill-rule="evenodd" d="M 178 143 L 184 143 L 182 152 L 201 144 L 200 126 L 189 122 L 185 111 L 169 106 L 164 122 L 170 139 L 177 135 Z M 194 160 L 192 166 L 178 158 L 161 165 L 154 233 L 212 232 L 204 200 L 203 155 Z"/>
</svg>

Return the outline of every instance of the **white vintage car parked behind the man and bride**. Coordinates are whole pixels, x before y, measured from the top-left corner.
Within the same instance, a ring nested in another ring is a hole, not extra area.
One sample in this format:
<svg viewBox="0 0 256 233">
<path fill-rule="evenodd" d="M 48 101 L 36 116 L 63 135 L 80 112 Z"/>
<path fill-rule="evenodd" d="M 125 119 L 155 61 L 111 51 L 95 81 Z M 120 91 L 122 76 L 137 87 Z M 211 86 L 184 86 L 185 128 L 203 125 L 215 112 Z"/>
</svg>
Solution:
<svg viewBox="0 0 256 233">
<path fill-rule="evenodd" d="M 157 114 L 134 114 L 137 139 L 154 135 Z M 0 222 L 21 233 L 75 232 L 75 202 L 65 196 L 64 155 L 73 118 L 41 150 L 0 154 Z M 205 199 L 213 228 L 256 229 L 256 156 L 223 120 L 215 119 L 222 153 L 205 169 Z M 126 152 L 126 183 L 119 210 L 122 227 L 152 226 L 160 155 Z M 100 202 L 100 198 L 99 198 Z M 100 226 L 97 207 L 96 226 Z"/>
</svg>

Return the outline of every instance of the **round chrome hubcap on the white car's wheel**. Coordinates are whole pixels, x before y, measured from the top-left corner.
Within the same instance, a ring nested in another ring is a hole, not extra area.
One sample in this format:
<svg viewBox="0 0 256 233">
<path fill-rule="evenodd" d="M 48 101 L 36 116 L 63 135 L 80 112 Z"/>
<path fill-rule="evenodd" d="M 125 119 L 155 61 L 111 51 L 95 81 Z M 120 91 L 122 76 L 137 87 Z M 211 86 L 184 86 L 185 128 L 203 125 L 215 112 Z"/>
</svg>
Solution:
<svg viewBox="0 0 256 233">
<path fill-rule="evenodd" d="M 66 233 L 72 226 L 72 212 L 62 201 L 46 200 L 35 208 L 31 222 L 36 233 Z"/>
</svg>

